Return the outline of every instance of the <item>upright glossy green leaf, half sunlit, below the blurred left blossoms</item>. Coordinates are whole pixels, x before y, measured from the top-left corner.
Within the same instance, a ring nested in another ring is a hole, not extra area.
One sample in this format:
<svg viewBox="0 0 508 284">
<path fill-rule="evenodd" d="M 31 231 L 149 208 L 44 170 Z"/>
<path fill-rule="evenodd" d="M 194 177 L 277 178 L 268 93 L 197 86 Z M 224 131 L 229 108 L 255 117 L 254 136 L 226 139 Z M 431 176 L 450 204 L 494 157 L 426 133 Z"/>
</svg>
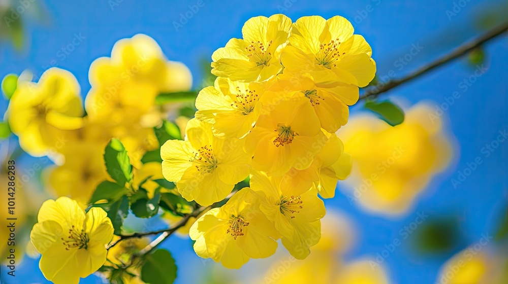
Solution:
<svg viewBox="0 0 508 284">
<path fill-rule="evenodd" d="M 104 150 L 106 170 L 120 186 L 132 181 L 132 165 L 120 140 L 113 138 Z"/>
</svg>

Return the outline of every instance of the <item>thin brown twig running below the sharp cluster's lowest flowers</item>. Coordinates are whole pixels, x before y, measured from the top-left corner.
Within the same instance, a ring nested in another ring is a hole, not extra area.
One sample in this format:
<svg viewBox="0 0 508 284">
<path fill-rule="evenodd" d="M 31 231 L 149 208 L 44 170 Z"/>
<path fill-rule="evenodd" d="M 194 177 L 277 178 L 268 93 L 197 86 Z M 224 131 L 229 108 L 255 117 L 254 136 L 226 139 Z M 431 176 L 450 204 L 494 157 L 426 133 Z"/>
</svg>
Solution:
<svg viewBox="0 0 508 284">
<path fill-rule="evenodd" d="M 229 200 L 236 192 L 237 191 L 233 191 L 224 200 L 226 200 L 226 201 Z M 117 243 L 119 243 L 122 240 L 132 239 L 132 238 L 142 238 L 144 236 L 161 234 L 155 240 L 153 240 L 150 244 L 148 244 L 142 251 L 140 251 L 140 254 L 143 254 L 143 252 L 145 250 L 147 250 L 147 249 L 148 249 L 147 252 L 149 252 L 155 246 L 157 246 L 159 243 L 161 243 L 163 240 L 165 240 L 166 238 L 171 236 L 178 229 L 180 229 L 181 227 L 184 227 L 191 217 L 197 218 L 202 212 L 204 212 L 204 211 L 206 211 L 208 209 L 211 209 L 211 208 L 218 207 L 219 204 L 220 204 L 220 202 L 215 202 L 215 203 L 213 203 L 210 206 L 201 206 L 198 209 L 195 209 L 194 211 L 192 211 L 192 213 L 185 215 L 180 221 L 176 222 L 172 227 L 170 227 L 168 229 L 162 229 L 162 230 L 150 231 L 150 232 L 144 232 L 144 233 L 134 233 L 134 234 L 131 234 L 131 235 L 119 235 L 120 239 L 118 239 L 117 241 L 111 243 L 107 247 L 107 249 L 109 250 L 111 247 L 115 246 Z"/>
</svg>

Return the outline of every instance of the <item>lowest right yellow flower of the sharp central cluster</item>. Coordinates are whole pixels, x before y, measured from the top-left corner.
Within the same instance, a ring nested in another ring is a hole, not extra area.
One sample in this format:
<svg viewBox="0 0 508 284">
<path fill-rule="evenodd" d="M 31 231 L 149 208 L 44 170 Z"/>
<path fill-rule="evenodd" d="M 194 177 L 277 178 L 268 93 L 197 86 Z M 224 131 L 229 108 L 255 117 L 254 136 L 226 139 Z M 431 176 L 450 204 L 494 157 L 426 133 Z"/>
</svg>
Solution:
<svg viewBox="0 0 508 284">
<path fill-rule="evenodd" d="M 261 198 L 261 210 L 282 236 L 282 244 L 296 259 L 305 259 L 321 238 L 325 204 L 315 189 L 293 195 L 293 188 L 281 185 L 281 177 L 253 171 L 250 187 Z"/>
</svg>

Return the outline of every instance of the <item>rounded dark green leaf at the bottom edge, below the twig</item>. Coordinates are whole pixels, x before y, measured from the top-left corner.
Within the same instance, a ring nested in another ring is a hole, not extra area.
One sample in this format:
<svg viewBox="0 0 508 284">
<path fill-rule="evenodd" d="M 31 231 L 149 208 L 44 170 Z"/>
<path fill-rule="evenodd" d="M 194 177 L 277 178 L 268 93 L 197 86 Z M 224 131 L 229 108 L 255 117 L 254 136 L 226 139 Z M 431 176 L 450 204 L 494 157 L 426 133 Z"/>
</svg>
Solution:
<svg viewBox="0 0 508 284">
<path fill-rule="evenodd" d="M 156 250 L 146 256 L 141 280 L 150 284 L 171 284 L 176 279 L 176 264 L 167 250 Z"/>
</svg>

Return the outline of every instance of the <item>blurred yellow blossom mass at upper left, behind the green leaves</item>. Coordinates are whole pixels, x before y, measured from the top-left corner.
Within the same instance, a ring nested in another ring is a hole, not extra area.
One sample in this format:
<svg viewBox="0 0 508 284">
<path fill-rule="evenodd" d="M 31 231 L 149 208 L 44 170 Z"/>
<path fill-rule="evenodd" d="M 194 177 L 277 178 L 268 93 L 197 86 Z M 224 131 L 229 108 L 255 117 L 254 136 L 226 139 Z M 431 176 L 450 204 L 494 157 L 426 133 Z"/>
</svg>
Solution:
<svg viewBox="0 0 508 284">
<path fill-rule="evenodd" d="M 74 75 L 50 68 L 38 83 L 19 80 L 8 109 L 21 148 L 55 161 L 47 169 L 51 191 L 80 204 L 107 179 L 103 153 L 112 137 L 122 141 L 136 169 L 147 151 L 158 149 L 153 127 L 168 114 L 155 97 L 189 90 L 192 76 L 182 63 L 168 61 L 153 39 L 137 34 L 118 41 L 111 57 L 93 61 L 89 81 L 83 108 Z"/>
</svg>

